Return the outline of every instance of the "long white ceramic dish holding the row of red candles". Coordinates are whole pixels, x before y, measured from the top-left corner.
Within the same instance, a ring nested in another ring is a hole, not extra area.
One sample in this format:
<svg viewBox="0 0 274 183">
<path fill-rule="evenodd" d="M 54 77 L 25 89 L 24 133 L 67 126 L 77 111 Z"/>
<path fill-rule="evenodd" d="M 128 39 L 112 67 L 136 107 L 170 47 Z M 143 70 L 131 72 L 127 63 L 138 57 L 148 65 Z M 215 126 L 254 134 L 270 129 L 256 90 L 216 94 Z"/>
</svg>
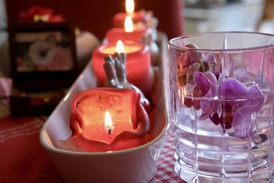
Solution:
<svg viewBox="0 0 274 183">
<path fill-rule="evenodd" d="M 168 86 L 167 67 L 162 59 L 160 66 L 162 75 L 159 80 L 160 98 L 155 110 L 157 113 L 153 134 L 156 138 L 149 143 L 111 153 L 90 153 L 65 151 L 60 149 L 60 140 L 71 136 L 69 117 L 73 97 L 87 88 L 94 88 L 96 79 L 92 74 L 91 64 L 77 78 L 64 99 L 55 108 L 40 132 L 40 143 L 49 154 L 66 182 L 149 182 L 153 178 L 158 165 L 160 151 L 169 130 L 168 123 Z M 163 69 L 163 70 L 162 70 Z M 163 74 L 165 73 L 165 74 Z"/>
</svg>

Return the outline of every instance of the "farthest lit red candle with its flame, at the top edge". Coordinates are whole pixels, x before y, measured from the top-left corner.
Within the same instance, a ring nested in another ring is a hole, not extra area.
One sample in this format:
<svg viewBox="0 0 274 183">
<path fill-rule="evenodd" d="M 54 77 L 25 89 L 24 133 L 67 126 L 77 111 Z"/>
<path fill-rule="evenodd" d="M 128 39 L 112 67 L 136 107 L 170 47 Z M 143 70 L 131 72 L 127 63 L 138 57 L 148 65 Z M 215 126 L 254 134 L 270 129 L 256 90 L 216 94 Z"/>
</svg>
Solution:
<svg viewBox="0 0 274 183">
<path fill-rule="evenodd" d="M 119 12 L 115 14 L 112 23 L 113 27 L 123 27 L 125 22 L 125 17 L 130 16 L 134 23 L 146 23 L 150 19 L 150 15 L 145 11 L 134 12 L 134 1 L 126 0 L 125 1 L 125 10 L 126 12 Z"/>
</svg>

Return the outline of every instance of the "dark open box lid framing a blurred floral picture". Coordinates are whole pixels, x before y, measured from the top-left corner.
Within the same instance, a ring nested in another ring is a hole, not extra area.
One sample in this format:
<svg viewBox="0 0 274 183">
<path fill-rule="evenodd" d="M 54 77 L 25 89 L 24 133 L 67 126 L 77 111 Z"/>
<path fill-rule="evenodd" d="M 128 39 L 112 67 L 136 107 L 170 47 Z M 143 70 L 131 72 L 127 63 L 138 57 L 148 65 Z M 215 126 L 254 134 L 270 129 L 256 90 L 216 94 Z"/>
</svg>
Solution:
<svg viewBox="0 0 274 183">
<path fill-rule="evenodd" d="M 75 32 L 60 23 L 9 25 L 10 62 L 14 86 L 24 91 L 69 87 L 76 78 Z"/>
</svg>

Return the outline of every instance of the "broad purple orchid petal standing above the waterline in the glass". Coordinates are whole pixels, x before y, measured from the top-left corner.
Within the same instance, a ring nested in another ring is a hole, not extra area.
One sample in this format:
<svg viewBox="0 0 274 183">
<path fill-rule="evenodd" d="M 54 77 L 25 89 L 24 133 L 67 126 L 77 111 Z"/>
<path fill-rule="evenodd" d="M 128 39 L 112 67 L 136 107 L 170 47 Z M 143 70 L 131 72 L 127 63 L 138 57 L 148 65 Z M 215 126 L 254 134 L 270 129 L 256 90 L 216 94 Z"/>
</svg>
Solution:
<svg viewBox="0 0 274 183">
<path fill-rule="evenodd" d="M 223 81 L 222 90 L 225 99 L 245 99 L 249 97 L 247 86 L 232 77 Z"/>
</svg>

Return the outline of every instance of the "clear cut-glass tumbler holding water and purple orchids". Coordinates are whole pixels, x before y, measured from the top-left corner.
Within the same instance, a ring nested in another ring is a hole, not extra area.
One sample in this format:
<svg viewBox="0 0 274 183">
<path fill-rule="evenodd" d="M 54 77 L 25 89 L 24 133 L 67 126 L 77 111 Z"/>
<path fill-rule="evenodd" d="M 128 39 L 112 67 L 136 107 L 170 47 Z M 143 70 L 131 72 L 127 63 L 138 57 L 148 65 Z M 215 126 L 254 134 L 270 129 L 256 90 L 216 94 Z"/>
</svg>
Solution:
<svg viewBox="0 0 274 183">
<path fill-rule="evenodd" d="M 186 182 L 273 182 L 274 35 L 169 41 L 175 172 Z"/>
</svg>

